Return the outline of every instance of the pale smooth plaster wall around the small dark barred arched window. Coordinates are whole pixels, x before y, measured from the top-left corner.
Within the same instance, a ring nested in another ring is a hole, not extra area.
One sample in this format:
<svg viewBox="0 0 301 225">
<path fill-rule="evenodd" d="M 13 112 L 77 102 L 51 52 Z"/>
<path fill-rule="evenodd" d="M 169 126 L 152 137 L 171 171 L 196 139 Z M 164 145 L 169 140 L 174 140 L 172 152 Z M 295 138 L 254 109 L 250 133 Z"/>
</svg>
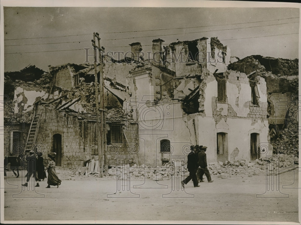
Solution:
<svg viewBox="0 0 301 225">
<path fill-rule="evenodd" d="M 138 117 L 139 164 L 161 166 L 162 157 L 171 154 L 160 153 L 160 140 L 167 139 L 171 144 L 172 155 L 184 155 L 182 147 L 195 141 L 192 119 L 183 117 L 181 103 L 162 103 L 143 109 Z M 145 117 L 142 117 L 145 116 Z"/>
</svg>

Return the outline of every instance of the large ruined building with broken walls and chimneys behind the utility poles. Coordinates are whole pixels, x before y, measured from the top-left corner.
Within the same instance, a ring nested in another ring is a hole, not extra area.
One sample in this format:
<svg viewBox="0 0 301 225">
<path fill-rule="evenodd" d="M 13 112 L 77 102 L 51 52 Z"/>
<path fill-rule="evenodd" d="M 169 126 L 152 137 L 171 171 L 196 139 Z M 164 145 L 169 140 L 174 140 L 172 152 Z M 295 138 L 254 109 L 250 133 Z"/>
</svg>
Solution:
<svg viewBox="0 0 301 225">
<path fill-rule="evenodd" d="M 195 144 L 208 147 L 208 162 L 266 154 L 268 149 L 259 149 L 268 142 L 265 79 L 227 70 L 230 49 L 217 38 L 163 43 L 153 40 L 151 59 L 141 56 L 142 45 L 135 42 L 131 57 L 103 63 L 109 165 L 124 154 L 132 163 L 160 166 Z M 94 66 L 49 69 L 41 78 L 48 85 L 39 88 L 39 81 L 8 82 L 14 106 L 23 104 L 25 126 L 7 130 L 6 153 L 16 142 L 28 148 L 36 115 L 36 145 L 45 154 L 56 152 L 58 165 L 74 168 L 98 159 Z"/>
</svg>

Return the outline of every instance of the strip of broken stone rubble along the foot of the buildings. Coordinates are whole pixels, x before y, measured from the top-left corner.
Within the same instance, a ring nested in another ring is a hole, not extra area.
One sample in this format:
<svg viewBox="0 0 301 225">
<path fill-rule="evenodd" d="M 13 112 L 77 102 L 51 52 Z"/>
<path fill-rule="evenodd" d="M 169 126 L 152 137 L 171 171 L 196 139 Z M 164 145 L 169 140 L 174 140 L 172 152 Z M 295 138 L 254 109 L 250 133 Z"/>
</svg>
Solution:
<svg viewBox="0 0 301 225">
<path fill-rule="evenodd" d="M 277 160 L 279 159 L 279 160 Z M 208 169 L 212 176 L 217 176 L 222 179 L 226 179 L 231 176 L 237 176 L 246 174 L 248 177 L 256 175 L 276 175 L 279 167 L 293 166 L 293 156 L 280 154 L 277 157 L 256 159 L 255 161 L 246 160 L 234 160 L 226 162 L 212 162 L 209 163 Z M 279 164 L 279 165 L 277 165 Z M 108 170 L 108 176 L 117 179 L 125 180 L 131 177 L 131 179 L 147 178 L 151 180 L 169 180 L 172 176 L 180 179 L 184 179 L 189 175 L 187 170 L 187 164 L 182 162 L 168 162 L 163 166 L 149 167 L 147 165 L 133 165 L 129 164 L 111 167 Z M 88 174 L 88 176 L 76 174 L 69 175 L 70 180 L 75 180 L 76 177 L 82 177 L 83 179 L 88 177 L 99 177 L 99 174 Z M 244 182 L 244 181 L 243 181 Z"/>
</svg>

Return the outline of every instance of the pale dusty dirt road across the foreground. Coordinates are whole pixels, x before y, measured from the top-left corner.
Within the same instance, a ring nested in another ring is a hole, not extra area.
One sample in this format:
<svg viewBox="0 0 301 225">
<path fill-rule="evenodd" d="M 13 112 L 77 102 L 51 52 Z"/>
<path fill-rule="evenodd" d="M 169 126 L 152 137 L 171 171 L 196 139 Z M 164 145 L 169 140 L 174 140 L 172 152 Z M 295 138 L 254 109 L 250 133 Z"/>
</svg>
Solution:
<svg viewBox="0 0 301 225">
<path fill-rule="evenodd" d="M 279 185 L 278 179 L 268 179 L 274 183 L 274 191 L 267 192 L 267 198 L 259 198 L 256 194 L 266 192 L 264 175 L 213 176 L 213 183 L 205 181 L 194 188 L 191 181 L 185 191 L 171 185 L 173 180 L 132 179 L 129 186 L 122 186 L 111 177 L 63 180 L 59 188 L 50 189 L 45 188 L 45 180 L 35 191 L 21 191 L 22 181 L 10 174 L 4 184 L 4 219 L 298 222 L 298 172 L 277 177 Z"/>
</svg>

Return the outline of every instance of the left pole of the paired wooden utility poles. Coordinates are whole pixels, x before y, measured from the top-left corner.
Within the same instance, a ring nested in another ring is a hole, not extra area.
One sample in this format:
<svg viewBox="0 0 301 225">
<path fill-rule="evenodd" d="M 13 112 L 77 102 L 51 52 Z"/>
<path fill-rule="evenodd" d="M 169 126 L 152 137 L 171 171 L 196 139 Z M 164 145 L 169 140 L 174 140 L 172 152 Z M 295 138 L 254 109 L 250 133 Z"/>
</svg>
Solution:
<svg viewBox="0 0 301 225">
<path fill-rule="evenodd" d="M 95 73 L 95 102 L 96 102 L 96 136 L 97 136 L 97 150 L 98 150 L 98 159 L 99 159 L 99 167 L 100 173 L 99 176 L 104 176 L 104 158 L 103 158 L 103 124 L 101 125 L 99 119 L 99 99 L 98 99 L 98 80 L 97 80 L 97 46 L 95 45 L 95 32 L 93 33 L 92 46 L 94 47 L 94 73 Z M 100 89 L 102 91 L 102 88 Z M 102 99 L 102 93 L 100 93 Z M 103 109 L 102 109 L 103 110 Z M 103 115 L 103 113 L 101 113 Z M 103 121 L 103 120 L 102 120 Z"/>
</svg>

